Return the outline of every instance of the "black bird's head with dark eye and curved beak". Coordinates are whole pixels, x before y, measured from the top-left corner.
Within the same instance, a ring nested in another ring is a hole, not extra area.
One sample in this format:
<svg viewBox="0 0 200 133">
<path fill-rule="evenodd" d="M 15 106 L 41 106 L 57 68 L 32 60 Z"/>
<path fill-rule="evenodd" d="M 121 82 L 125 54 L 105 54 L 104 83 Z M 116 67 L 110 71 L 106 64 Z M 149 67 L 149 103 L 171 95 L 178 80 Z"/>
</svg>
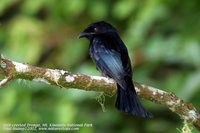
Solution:
<svg viewBox="0 0 200 133">
<path fill-rule="evenodd" d="M 94 36 L 115 33 L 116 29 L 105 21 L 95 22 L 90 24 L 83 32 L 81 32 L 78 38 L 86 37 L 88 39 Z"/>
</svg>

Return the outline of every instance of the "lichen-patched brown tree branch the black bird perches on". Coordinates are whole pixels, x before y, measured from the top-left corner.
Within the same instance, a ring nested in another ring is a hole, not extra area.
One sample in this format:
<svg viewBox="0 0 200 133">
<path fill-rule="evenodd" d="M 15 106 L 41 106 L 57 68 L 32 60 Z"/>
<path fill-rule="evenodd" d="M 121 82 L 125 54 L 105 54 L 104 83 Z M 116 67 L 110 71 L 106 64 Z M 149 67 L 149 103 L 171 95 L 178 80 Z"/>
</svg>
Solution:
<svg viewBox="0 0 200 133">
<path fill-rule="evenodd" d="M 104 92 L 110 96 L 116 93 L 115 81 L 106 77 L 73 74 L 64 70 L 35 67 L 3 57 L 1 57 L 1 70 L 0 73 L 4 73 L 9 78 L 2 80 L 0 84 L 5 81 L 7 83 L 11 79 L 26 79 L 63 88 Z M 174 93 L 168 93 L 137 82 L 134 82 L 134 84 L 136 92 L 140 97 L 164 105 L 200 130 L 200 114 L 191 103 L 184 102 Z"/>
</svg>

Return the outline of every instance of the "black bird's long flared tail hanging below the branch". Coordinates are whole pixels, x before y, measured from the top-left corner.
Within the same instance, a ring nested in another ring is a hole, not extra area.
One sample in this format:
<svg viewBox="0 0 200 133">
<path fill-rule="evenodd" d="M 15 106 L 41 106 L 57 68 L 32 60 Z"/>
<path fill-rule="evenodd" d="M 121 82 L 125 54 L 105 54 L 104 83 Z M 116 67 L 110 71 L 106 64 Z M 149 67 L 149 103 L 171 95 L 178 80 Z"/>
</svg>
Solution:
<svg viewBox="0 0 200 133">
<path fill-rule="evenodd" d="M 153 115 L 142 107 L 137 98 L 134 85 L 132 88 L 122 89 L 117 84 L 117 100 L 115 106 L 117 109 L 137 116 L 151 118 Z"/>
</svg>

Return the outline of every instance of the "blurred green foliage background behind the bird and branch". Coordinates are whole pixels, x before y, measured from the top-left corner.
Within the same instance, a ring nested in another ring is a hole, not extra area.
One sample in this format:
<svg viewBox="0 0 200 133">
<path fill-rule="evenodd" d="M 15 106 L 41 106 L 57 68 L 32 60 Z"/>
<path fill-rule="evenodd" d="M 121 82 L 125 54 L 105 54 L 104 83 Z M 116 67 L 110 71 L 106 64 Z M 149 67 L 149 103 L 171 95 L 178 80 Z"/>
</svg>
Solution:
<svg viewBox="0 0 200 133">
<path fill-rule="evenodd" d="M 114 25 L 128 47 L 134 80 L 174 92 L 200 109 L 199 0 L 1 0 L 0 52 L 19 62 L 100 75 L 78 34 L 90 23 Z M 92 123 L 79 133 L 176 133 L 183 120 L 147 100 L 153 119 L 129 116 L 100 93 L 15 80 L 0 90 L 0 125 Z M 11 131 L 14 132 L 14 131 Z M 197 132 L 193 129 L 193 132 Z"/>
</svg>

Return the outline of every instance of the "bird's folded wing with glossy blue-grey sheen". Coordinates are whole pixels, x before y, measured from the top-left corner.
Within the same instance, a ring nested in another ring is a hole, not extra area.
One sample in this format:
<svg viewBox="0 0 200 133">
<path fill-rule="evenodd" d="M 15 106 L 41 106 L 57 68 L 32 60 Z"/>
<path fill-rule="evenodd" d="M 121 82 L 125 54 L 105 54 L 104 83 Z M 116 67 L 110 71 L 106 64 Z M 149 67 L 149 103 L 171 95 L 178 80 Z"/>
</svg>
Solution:
<svg viewBox="0 0 200 133">
<path fill-rule="evenodd" d="M 123 55 L 106 48 L 104 45 L 94 45 L 92 47 L 92 58 L 97 67 L 104 75 L 115 79 L 118 83 L 126 74 L 121 56 Z"/>
</svg>

